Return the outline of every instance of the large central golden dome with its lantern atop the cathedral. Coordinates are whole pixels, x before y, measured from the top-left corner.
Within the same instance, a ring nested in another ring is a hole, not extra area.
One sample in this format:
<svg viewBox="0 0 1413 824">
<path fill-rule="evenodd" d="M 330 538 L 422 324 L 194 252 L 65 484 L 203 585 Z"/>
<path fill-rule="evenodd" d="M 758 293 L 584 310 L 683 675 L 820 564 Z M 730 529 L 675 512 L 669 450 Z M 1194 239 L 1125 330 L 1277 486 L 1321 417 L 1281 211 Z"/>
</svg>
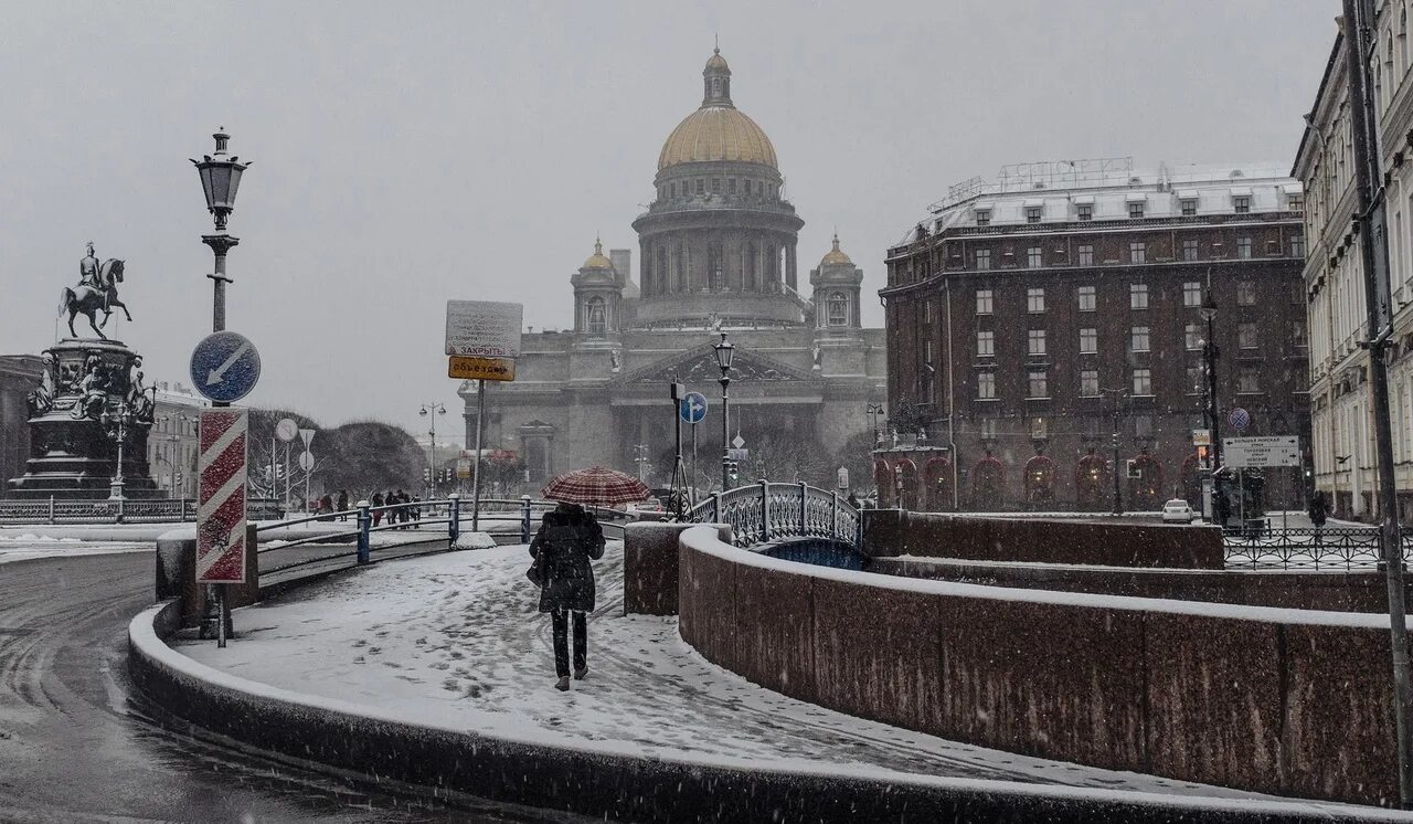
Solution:
<svg viewBox="0 0 1413 824">
<path fill-rule="evenodd" d="M 776 147 L 764 130 L 731 102 L 731 68 L 719 51 L 706 61 L 702 78 L 706 89 L 701 109 L 688 114 L 667 137 L 657 170 L 709 161 L 759 163 L 779 170 Z"/>
</svg>

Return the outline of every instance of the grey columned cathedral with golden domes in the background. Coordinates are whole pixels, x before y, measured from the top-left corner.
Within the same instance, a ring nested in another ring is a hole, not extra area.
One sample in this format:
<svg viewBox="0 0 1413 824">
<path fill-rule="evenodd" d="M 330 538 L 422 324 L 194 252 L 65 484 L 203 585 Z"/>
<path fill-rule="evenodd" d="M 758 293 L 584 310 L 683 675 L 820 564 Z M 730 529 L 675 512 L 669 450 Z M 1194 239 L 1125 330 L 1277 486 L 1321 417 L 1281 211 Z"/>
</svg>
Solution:
<svg viewBox="0 0 1413 824">
<path fill-rule="evenodd" d="M 822 471 L 798 479 L 832 486 L 844 442 L 870 431 L 868 407 L 886 394 L 887 360 L 883 329 L 859 322 L 863 271 L 835 237 L 810 270 L 808 294 L 801 291 L 796 243 L 804 220 L 783 196 L 776 150 L 732 103 L 719 51 L 702 78 L 701 106 L 663 144 L 656 198 L 633 222 L 642 283 L 632 278 L 630 250 L 605 256 L 595 243 L 569 277 L 572 331 L 524 335 L 516 380 L 487 386 L 486 448 L 517 452 L 530 483 L 591 465 L 632 473 L 647 465 L 649 483 L 667 485 L 673 382 L 711 404 L 697 427 L 697 475 L 719 479 L 712 343 L 722 331 L 735 345 L 731 440 L 739 434 L 753 457 L 804 451 Z M 463 386 L 461 394 L 473 444 L 475 392 Z M 690 451 L 685 434 L 684 442 Z M 743 482 L 757 468 L 743 462 Z"/>
</svg>

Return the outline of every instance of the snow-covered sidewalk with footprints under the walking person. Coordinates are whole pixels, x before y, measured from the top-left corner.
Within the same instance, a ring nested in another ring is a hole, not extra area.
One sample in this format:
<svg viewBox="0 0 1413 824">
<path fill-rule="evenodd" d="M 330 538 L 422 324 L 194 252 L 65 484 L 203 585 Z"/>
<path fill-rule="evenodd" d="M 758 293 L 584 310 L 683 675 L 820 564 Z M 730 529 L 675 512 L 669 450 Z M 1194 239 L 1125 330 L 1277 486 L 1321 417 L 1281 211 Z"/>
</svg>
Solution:
<svg viewBox="0 0 1413 824">
<path fill-rule="evenodd" d="M 252 681 L 528 743 L 885 779 L 1260 797 L 971 746 L 771 693 L 705 661 L 675 618 L 623 616 L 622 555 L 610 543 L 596 564 L 589 676 L 567 694 L 554 688 L 550 622 L 536 611 L 524 546 L 380 564 L 237 611 L 239 637 L 225 650 L 172 645 Z"/>
</svg>

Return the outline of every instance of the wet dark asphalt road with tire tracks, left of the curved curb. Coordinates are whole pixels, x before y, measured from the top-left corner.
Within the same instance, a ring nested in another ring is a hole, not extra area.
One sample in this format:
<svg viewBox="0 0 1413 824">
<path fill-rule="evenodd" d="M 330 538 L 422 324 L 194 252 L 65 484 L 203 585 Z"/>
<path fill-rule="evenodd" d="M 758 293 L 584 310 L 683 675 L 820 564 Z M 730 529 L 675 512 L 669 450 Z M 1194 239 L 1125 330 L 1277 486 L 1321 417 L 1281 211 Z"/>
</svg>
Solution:
<svg viewBox="0 0 1413 824">
<path fill-rule="evenodd" d="M 0 564 L 0 821 L 567 820 L 355 786 L 160 721 L 127 680 L 127 623 L 151 604 L 153 564 Z"/>
</svg>

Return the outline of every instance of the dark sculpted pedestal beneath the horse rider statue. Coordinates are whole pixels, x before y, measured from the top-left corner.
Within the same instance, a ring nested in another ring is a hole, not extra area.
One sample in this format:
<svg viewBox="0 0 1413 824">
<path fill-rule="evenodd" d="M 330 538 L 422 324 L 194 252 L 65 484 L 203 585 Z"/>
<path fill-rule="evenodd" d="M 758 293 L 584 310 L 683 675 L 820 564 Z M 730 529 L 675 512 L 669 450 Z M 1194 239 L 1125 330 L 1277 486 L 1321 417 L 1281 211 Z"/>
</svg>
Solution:
<svg viewBox="0 0 1413 824">
<path fill-rule="evenodd" d="M 131 396 L 141 356 L 120 341 L 66 338 L 45 349 L 45 387 L 30 407 L 30 458 L 25 472 L 11 479 L 8 498 L 105 500 L 113 492 L 117 442 L 100 414 L 117 416 Z M 141 387 L 138 387 L 141 389 Z M 123 441 L 123 496 L 157 498 L 147 466 L 148 416 L 127 425 Z"/>
</svg>

